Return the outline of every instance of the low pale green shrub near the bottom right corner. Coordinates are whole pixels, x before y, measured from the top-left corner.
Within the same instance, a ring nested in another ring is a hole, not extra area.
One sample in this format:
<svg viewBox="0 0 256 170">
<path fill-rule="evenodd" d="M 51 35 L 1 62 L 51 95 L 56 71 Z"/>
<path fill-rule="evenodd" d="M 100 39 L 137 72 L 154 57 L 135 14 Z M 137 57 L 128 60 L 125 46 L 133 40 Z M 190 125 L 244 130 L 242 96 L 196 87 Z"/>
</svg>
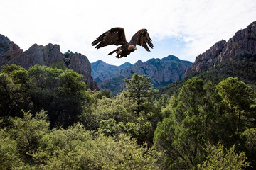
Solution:
<svg viewBox="0 0 256 170">
<path fill-rule="evenodd" d="M 206 147 L 208 157 L 203 164 L 198 164 L 198 169 L 228 169 L 228 170 L 242 170 L 249 166 L 248 162 L 245 162 L 245 152 L 235 153 L 235 145 L 230 149 L 225 149 L 223 145 L 216 145 Z"/>
</svg>

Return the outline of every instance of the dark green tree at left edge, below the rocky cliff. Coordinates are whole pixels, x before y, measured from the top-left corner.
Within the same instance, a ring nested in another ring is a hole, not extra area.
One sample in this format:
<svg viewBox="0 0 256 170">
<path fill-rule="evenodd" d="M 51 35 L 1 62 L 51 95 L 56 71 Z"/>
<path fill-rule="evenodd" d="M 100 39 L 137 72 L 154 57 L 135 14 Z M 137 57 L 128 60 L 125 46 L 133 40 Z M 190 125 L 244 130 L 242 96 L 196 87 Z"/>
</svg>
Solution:
<svg viewBox="0 0 256 170">
<path fill-rule="evenodd" d="M 4 66 L 0 72 L 0 116 L 22 115 L 21 109 L 29 105 L 28 72 L 14 64 Z"/>
</svg>

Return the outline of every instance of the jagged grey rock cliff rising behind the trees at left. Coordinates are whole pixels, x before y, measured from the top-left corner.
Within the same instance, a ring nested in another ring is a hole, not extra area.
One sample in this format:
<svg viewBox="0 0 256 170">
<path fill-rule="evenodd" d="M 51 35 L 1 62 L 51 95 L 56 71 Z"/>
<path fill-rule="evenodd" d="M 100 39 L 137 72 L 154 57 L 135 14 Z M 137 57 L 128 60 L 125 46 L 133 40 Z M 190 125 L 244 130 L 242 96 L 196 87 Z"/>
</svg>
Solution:
<svg viewBox="0 0 256 170">
<path fill-rule="evenodd" d="M 21 50 L 18 45 L 10 41 L 4 35 L 0 35 L 0 65 L 17 64 L 28 69 L 35 64 L 53 66 L 54 64 L 61 68 L 73 69 L 82 74 L 90 89 L 98 89 L 97 84 L 91 77 L 90 62 L 85 55 L 73 52 L 60 52 L 59 45 L 48 44 L 32 45 L 28 50 Z"/>
</svg>

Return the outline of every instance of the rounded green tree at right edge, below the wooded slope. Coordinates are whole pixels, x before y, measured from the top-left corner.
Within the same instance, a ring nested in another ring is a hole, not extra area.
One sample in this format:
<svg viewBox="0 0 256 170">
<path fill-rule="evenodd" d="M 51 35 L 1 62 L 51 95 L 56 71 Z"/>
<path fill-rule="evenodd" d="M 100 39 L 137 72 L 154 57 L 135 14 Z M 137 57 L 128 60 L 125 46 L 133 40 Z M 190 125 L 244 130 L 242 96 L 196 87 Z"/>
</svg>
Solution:
<svg viewBox="0 0 256 170">
<path fill-rule="evenodd" d="M 246 122 L 253 123 L 252 105 L 255 105 L 255 92 L 238 78 L 228 77 L 221 81 L 218 93 L 223 98 L 227 113 L 232 118 L 237 132 L 245 130 Z"/>
</svg>

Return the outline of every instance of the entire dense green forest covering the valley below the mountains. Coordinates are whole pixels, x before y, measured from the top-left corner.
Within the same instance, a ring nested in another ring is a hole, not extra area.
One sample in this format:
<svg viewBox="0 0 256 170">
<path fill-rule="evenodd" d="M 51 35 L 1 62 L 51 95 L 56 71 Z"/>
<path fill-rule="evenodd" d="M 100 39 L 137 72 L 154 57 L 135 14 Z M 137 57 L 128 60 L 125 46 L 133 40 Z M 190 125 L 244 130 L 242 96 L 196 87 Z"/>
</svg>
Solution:
<svg viewBox="0 0 256 170">
<path fill-rule="evenodd" d="M 124 79 L 117 96 L 71 69 L 0 72 L 0 169 L 256 169 L 256 94 L 235 77 L 176 93 Z"/>
</svg>

